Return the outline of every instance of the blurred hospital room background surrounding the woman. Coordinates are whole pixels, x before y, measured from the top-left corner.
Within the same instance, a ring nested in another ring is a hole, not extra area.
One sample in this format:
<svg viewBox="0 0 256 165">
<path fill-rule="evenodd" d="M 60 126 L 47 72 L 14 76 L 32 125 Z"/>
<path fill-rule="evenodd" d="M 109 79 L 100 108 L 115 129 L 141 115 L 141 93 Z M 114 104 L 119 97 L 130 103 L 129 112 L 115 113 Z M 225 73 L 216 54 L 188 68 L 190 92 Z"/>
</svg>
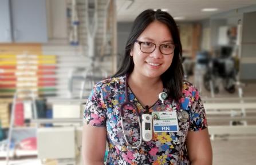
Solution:
<svg viewBox="0 0 256 165">
<path fill-rule="evenodd" d="M 86 100 L 119 69 L 146 9 L 167 11 L 178 25 L 184 80 L 203 101 L 213 164 L 255 164 L 255 0 L 1 0 L 0 165 L 83 164 Z"/>
</svg>

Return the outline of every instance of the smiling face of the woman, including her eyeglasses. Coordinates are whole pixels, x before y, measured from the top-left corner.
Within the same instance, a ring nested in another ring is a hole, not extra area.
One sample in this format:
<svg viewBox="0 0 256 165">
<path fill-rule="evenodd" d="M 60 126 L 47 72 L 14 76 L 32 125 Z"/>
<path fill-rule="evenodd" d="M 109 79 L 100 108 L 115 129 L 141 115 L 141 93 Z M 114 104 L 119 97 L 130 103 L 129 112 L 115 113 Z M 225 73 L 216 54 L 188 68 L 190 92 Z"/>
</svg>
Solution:
<svg viewBox="0 0 256 165">
<path fill-rule="evenodd" d="M 130 55 L 135 64 L 131 79 L 149 77 L 160 80 L 160 75 L 171 66 L 174 57 L 173 45 L 170 30 L 164 23 L 159 21 L 150 23 L 131 49 Z"/>
</svg>

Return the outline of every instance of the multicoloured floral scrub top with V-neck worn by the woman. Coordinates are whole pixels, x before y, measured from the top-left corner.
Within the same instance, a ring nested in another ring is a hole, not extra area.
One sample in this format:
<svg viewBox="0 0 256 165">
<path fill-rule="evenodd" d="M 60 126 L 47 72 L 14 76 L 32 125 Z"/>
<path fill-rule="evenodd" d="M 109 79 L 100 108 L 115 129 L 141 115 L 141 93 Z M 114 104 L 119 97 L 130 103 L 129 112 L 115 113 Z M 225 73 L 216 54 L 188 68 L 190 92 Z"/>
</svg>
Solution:
<svg viewBox="0 0 256 165">
<path fill-rule="evenodd" d="M 84 111 L 84 122 L 96 127 L 106 127 L 109 152 L 107 164 L 190 164 L 186 150 L 188 131 L 198 131 L 207 127 L 206 114 L 198 90 L 184 81 L 183 98 L 180 103 L 165 100 L 166 111 L 180 112 L 185 109 L 190 119 L 179 121 L 178 132 L 153 132 L 149 142 L 142 142 L 138 149 L 127 149 L 121 127 L 120 107 L 125 102 L 126 76 L 109 78 L 94 86 Z M 128 87 L 128 98 L 135 103 L 140 115 L 145 112 L 136 96 Z M 189 98 L 189 99 L 187 99 Z M 180 106 L 181 105 L 181 106 Z M 162 102 L 157 100 L 149 112 L 162 110 Z M 140 130 L 135 111 L 125 110 L 124 130 L 128 142 L 137 145 L 140 142 Z"/>
</svg>

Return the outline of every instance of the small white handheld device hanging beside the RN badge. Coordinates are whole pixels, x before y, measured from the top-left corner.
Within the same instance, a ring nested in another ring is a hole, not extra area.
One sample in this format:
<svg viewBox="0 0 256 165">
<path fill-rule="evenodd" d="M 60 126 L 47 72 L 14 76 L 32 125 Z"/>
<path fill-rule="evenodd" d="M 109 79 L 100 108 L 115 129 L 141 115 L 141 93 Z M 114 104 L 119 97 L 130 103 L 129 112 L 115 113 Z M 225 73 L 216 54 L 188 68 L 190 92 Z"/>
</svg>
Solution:
<svg viewBox="0 0 256 165">
<path fill-rule="evenodd" d="M 152 115 L 142 115 L 142 139 L 149 142 L 153 137 Z"/>
</svg>

